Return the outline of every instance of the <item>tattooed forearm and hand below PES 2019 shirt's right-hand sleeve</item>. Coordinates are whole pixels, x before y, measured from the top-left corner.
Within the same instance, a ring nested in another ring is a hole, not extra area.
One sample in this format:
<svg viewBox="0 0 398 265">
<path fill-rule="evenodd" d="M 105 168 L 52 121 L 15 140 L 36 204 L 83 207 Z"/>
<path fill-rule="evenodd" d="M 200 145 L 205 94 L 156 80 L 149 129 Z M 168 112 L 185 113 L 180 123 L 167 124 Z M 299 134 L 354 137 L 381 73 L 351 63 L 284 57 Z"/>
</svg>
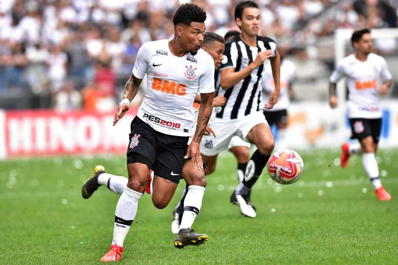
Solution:
<svg viewBox="0 0 398 265">
<path fill-rule="evenodd" d="M 199 114 L 197 118 L 196 131 L 193 135 L 192 142 L 188 147 L 185 158 L 192 157 L 192 166 L 202 170 L 203 161 L 200 154 L 199 144 L 202 140 L 202 136 L 206 131 L 207 123 L 209 122 L 211 112 L 213 110 L 213 98 L 214 93 L 201 93 L 201 106 L 199 108 Z"/>
</svg>

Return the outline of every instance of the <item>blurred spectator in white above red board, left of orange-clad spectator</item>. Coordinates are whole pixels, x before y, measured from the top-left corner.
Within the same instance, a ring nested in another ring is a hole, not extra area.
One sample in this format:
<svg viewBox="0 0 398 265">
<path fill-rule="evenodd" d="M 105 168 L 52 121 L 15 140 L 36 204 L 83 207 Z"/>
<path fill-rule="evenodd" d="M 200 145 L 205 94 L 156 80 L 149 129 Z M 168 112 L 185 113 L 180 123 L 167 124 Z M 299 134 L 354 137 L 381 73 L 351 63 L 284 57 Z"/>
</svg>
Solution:
<svg viewBox="0 0 398 265">
<path fill-rule="evenodd" d="M 72 82 L 66 82 L 63 90 L 55 96 L 55 109 L 58 111 L 79 109 L 81 104 L 81 94 L 75 90 Z"/>
</svg>

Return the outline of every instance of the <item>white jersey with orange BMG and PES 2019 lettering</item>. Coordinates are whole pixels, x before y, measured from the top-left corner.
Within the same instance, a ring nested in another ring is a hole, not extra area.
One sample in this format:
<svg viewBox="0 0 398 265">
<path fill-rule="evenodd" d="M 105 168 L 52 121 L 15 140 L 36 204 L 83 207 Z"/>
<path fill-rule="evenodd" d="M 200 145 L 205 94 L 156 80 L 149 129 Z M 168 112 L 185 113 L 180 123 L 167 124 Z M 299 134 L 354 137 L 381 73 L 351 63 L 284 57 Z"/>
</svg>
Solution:
<svg viewBox="0 0 398 265">
<path fill-rule="evenodd" d="M 146 95 L 137 116 L 160 133 L 192 136 L 196 93 L 214 92 L 214 61 L 200 49 L 196 55 L 174 56 L 169 40 L 144 43 L 133 74 L 147 73 Z"/>
</svg>

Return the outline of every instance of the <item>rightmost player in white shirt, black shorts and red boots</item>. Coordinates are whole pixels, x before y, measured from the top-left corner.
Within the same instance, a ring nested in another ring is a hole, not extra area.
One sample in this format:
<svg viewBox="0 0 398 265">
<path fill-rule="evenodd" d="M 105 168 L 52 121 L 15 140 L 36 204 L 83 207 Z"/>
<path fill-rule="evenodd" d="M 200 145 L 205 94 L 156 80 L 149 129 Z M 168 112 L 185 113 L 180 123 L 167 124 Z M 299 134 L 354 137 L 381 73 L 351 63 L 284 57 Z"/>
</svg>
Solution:
<svg viewBox="0 0 398 265">
<path fill-rule="evenodd" d="M 348 143 L 342 146 L 341 166 L 346 167 L 351 154 L 362 153 L 362 163 L 372 182 L 379 200 L 391 200 L 378 175 L 375 154 L 382 124 L 379 95 L 386 94 L 391 86 L 391 73 L 386 61 L 371 52 L 372 37 L 369 29 L 355 31 L 351 36 L 354 53 L 338 62 L 330 77 L 330 98 L 332 108 L 337 107 L 336 83 L 346 77 L 348 86 L 348 117 L 352 138 L 360 146 Z"/>
</svg>

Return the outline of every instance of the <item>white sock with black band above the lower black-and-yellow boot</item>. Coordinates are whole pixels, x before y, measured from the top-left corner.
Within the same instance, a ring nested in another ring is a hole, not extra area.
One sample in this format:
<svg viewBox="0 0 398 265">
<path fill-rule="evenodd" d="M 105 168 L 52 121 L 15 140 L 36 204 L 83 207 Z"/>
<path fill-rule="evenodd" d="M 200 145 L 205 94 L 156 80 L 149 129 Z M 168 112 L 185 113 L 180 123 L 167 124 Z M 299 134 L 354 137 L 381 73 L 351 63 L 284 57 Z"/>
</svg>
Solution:
<svg viewBox="0 0 398 265">
<path fill-rule="evenodd" d="M 184 214 L 183 219 L 179 225 L 179 229 L 191 228 L 202 207 L 203 195 L 205 194 L 205 187 L 190 185 L 188 193 L 184 200 Z"/>
</svg>

